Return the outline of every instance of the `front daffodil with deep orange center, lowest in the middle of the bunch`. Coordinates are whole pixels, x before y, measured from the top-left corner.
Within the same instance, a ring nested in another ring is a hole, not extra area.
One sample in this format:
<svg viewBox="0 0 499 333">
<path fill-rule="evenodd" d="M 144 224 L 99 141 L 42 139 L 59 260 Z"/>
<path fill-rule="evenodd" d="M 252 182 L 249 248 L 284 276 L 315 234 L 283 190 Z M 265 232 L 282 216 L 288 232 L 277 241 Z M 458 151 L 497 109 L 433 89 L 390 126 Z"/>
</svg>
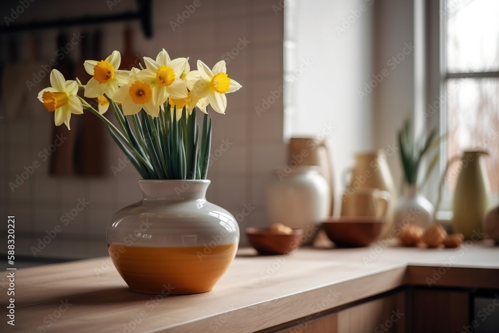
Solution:
<svg viewBox="0 0 499 333">
<path fill-rule="evenodd" d="M 140 72 L 137 68 L 132 68 L 128 82 L 118 88 L 113 100 L 121 103 L 124 115 L 136 114 L 140 109 L 144 109 L 151 116 L 157 117 L 159 105 L 154 101 L 152 86 L 139 79 Z"/>
</svg>

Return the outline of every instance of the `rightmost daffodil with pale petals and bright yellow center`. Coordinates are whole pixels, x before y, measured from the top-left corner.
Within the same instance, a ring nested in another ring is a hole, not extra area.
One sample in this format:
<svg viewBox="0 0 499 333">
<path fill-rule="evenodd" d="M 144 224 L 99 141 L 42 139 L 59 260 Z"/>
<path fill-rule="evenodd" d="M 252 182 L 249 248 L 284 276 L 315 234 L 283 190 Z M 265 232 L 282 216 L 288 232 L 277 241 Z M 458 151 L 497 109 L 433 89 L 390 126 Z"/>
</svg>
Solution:
<svg viewBox="0 0 499 333">
<path fill-rule="evenodd" d="M 193 73 L 194 72 L 194 73 Z M 192 74 L 191 74 L 192 73 Z M 190 75 L 198 75 L 200 79 L 194 83 L 191 89 L 191 106 L 197 105 L 199 100 L 210 104 L 219 113 L 225 113 L 227 108 L 227 98 L 225 94 L 239 90 L 242 85 L 227 75 L 225 60 L 220 60 L 213 66 L 213 69 L 198 60 L 198 71 L 191 71 Z M 189 76 L 188 74 L 188 76 Z"/>
</svg>

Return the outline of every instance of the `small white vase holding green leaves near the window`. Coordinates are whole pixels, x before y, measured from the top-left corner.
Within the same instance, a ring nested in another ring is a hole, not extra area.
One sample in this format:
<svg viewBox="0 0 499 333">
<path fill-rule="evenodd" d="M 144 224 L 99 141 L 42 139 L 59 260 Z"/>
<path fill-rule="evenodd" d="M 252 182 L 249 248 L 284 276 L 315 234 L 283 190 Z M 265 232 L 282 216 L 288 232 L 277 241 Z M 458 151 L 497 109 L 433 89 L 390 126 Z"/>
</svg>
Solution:
<svg viewBox="0 0 499 333">
<path fill-rule="evenodd" d="M 417 190 L 416 185 L 408 184 L 404 189 L 404 195 L 395 204 L 393 230 L 400 232 L 408 224 L 418 225 L 426 229 L 432 223 L 433 212 L 433 205 Z"/>
</svg>

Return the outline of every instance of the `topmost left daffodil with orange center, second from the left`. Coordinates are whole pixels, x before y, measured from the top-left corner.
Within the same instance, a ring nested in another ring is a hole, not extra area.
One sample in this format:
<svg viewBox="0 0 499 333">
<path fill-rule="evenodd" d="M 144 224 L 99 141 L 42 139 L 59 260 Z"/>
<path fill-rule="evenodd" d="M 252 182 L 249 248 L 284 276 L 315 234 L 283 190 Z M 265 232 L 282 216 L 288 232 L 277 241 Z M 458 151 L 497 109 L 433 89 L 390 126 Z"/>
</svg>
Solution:
<svg viewBox="0 0 499 333">
<path fill-rule="evenodd" d="M 86 60 L 85 70 L 92 75 L 92 78 L 85 86 L 85 97 L 96 98 L 103 94 L 113 97 L 118 86 L 128 82 L 130 74 L 128 70 L 118 69 L 120 63 L 121 54 L 118 51 L 113 51 L 106 60 Z"/>
</svg>

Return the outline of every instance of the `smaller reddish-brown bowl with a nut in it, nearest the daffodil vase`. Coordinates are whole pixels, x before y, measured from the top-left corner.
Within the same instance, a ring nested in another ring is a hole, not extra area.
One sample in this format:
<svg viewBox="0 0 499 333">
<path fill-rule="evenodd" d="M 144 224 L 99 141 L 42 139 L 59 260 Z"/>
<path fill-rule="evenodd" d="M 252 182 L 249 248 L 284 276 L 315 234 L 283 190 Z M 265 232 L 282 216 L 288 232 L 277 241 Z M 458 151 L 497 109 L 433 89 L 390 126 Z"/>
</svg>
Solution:
<svg viewBox="0 0 499 333">
<path fill-rule="evenodd" d="M 303 229 L 292 234 L 276 234 L 269 229 L 246 228 L 246 235 L 253 248 L 262 255 L 283 255 L 296 250 L 302 242 Z"/>
</svg>

